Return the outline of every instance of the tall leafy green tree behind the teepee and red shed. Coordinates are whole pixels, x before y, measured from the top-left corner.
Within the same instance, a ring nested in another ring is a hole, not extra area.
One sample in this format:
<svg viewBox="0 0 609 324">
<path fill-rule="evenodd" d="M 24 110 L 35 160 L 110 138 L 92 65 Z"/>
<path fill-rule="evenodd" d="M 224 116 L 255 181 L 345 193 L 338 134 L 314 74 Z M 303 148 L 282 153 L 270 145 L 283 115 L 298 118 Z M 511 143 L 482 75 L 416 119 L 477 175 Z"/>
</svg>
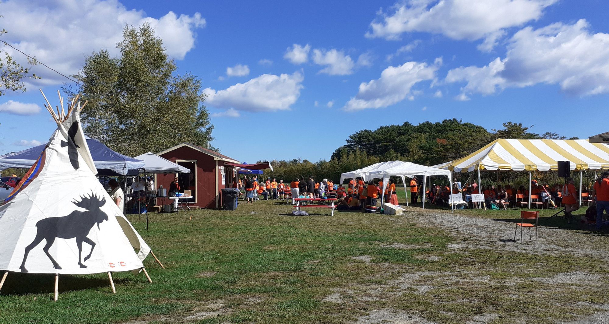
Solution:
<svg viewBox="0 0 609 324">
<path fill-rule="evenodd" d="M 76 77 L 82 86 L 85 133 L 131 157 L 188 142 L 208 147 L 213 130 L 201 80 L 179 75 L 149 24 L 125 27 L 119 57 L 100 50 L 86 57 Z M 210 147 L 210 149 L 214 149 Z"/>
</svg>

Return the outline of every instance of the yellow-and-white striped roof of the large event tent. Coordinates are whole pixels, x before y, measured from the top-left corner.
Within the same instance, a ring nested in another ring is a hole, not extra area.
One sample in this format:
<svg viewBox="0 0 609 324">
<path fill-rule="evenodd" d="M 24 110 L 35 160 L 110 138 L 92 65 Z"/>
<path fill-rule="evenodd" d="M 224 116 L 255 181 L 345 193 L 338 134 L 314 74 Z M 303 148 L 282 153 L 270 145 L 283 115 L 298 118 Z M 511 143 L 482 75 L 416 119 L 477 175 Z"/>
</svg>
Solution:
<svg viewBox="0 0 609 324">
<path fill-rule="evenodd" d="M 609 145 L 587 139 L 495 139 L 466 157 L 434 167 L 453 172 L 556 171 L 557 161 L 570 161 L 571 170 L 609 169 Z"/>
</svg>

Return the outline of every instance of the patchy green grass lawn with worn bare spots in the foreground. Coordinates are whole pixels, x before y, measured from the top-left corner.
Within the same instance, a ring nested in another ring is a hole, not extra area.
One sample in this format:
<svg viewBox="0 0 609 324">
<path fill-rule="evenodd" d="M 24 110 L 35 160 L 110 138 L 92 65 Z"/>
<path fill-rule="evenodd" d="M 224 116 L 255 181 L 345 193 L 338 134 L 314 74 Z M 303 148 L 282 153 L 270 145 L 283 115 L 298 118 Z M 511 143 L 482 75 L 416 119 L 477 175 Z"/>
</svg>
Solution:
<svg viewBox="0 0 609 324">
<path fill-rule="evenodd" d="M 451 250 L 463 238 L 407 217 L 290 211 L 270 200 L 233 212 L 151 213 L 149 231 L 143 216 L 130 216 L 167 268 L 146 259 L 152 284 L 114 273 L 113 295 L 106 275 L 60 276 L 53 302 L 52 276 L 10 273 L 0 323 L 345 323 L 387 309 L 387 318 L 404 312 L 439 323 L 484 314 L 493 314 L 489 323 L 554 323 L 608 302 L 600 259 Z M 596 286 L 554 284 L 557 273 L 586 273 Z"/>
</svg>

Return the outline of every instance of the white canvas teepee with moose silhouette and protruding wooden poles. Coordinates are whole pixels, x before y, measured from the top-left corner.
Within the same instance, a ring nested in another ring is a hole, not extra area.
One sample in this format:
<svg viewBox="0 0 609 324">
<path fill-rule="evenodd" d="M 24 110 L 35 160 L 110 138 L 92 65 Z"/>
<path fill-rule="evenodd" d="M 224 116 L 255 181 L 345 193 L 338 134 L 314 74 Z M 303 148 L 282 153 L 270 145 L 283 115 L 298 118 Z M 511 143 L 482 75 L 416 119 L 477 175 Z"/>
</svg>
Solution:
<svg viewBox="0 0 609 324">
<path fill-rule="evenodd" d="M 0 288 L 9 272 L 54 273 L 55 300 L 59 274 L 107 272 L 113 292 L 111 272 L 141 269 L 150 281 L 150 247 L 95 176 L 78 97 L 65 111 L 60 96 L 57 114 L 46 102 L 57 130 L 0 206 Z"/>
</svg>

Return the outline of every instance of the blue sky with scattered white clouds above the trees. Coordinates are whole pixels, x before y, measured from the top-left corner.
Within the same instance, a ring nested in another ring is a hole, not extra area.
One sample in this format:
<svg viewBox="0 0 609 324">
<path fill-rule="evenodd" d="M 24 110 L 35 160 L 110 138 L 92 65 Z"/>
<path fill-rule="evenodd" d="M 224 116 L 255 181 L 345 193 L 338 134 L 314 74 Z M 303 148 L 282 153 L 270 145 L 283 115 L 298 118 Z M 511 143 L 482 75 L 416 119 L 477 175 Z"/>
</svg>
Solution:
<svg viewBox="0 0 609 324">
<path fill-rule="evenodd" d="M 113 51 L 125 23 L 150 21 L 178 72 L 210 94 L 214 146 L 241 161 L 317 161 L 357 130 L 405 121 L 606 132 L 607 9 L 600 0 L 7 0 L 0 26 L 4 40 L 72 74 L 83 53 Z M 37 89 L 56 93 L 65 80 L 33 70 L 43 79 L 29 91 L 0 97 L 0 152 L 46 143 L 55 129 Z"/>
</svg>

